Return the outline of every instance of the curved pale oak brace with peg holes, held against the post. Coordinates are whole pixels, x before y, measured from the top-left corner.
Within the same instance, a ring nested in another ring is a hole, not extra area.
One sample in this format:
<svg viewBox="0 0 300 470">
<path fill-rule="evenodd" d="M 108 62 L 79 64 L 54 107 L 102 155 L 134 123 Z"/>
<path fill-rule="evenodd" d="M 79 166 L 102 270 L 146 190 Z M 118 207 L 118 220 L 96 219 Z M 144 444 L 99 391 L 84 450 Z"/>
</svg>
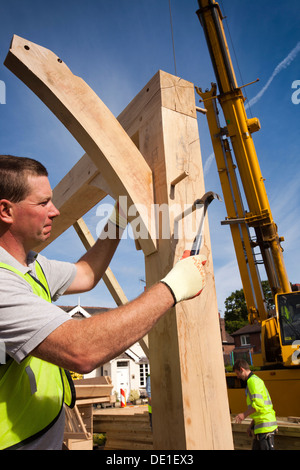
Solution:
<svg viewBox="0 0 300 470">
<path fill-rule="evenodd" d="M 53 52 L 26 39 L 13 37 L 4 64 L 75 137 L 112 188 L 111 196 L 127 196 L 127 207 L 135 206 L 134 218 L 139 216 L 144 254 L 156 251 L 150 235 L 152 171 L 110 110 Z M 141 213 L 136 205 L 146 210 Z"/>
</svg>

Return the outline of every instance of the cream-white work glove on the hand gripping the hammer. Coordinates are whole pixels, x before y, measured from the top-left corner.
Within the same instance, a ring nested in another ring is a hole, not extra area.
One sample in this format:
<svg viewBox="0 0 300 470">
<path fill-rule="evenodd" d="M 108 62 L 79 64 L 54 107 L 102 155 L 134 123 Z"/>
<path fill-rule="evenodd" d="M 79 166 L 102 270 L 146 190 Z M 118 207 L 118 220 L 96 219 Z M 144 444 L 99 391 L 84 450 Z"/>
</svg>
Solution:
<svg viewBox="0 0 300 470">
<path fill-rule="evenodd" d="M 205 256 L 187 256 L 187 253 L 184 253 L 183 258 L 160 281 L 169 287 L 175 300 L 174 305 L 182 300 L 196 297 L 205 286 Z"/>
</svg>

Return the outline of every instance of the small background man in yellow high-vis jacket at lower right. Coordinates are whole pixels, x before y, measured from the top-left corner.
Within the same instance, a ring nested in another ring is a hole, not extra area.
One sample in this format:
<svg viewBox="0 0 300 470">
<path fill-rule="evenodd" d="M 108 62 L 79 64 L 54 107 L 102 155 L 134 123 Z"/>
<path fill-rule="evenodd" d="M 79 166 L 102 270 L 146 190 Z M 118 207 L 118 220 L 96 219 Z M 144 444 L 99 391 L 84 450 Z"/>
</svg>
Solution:
<svg viewBox="0 0 300 470">
<path fill-rule="evenodd" d="M 250 416 L 252 422 L 247 432 L 249 436 L 254 435 L 252 449 L 274 450 L 274 435 L 278 426 L 272 400 L 264 381 L 251 372 L 249 364 L 243 359 L 234 363 L 233 370 L 239 379 L 247 381 L 248 408 L 235 417 L 236 423 L 241 423 Z"/>
</svg>

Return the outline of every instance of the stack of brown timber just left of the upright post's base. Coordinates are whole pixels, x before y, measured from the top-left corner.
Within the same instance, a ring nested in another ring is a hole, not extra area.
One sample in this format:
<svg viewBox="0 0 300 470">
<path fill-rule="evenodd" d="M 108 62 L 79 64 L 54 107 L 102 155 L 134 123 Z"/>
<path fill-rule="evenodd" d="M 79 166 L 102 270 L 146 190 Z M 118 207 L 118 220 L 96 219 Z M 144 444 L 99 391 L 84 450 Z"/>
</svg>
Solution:
<svg viewBox="0 0 300 470">
<path fill-rule="evenodd" d="M 146 406 L 95 410 L 94 432 L 106 433 L 104 450 L 153 450 Z"/>
</svg>

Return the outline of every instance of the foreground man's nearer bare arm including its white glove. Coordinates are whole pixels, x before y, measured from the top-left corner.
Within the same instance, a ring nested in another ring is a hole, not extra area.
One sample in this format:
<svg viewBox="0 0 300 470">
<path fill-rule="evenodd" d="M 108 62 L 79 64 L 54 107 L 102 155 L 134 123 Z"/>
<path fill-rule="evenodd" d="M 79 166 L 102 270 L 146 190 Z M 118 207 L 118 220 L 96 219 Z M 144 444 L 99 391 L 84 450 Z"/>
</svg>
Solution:
<svg viewBox="0 0 300 470">
<path fill-rule="evenodd" d="M 202 255 L 180 260 L 137 299 L 91 318 L 65 322 L 31 354 L 75 372 L 92 371 L 145 336 L 175 303 L 199 295 L 205 286 L 205 262 Z"/>
</svg>

